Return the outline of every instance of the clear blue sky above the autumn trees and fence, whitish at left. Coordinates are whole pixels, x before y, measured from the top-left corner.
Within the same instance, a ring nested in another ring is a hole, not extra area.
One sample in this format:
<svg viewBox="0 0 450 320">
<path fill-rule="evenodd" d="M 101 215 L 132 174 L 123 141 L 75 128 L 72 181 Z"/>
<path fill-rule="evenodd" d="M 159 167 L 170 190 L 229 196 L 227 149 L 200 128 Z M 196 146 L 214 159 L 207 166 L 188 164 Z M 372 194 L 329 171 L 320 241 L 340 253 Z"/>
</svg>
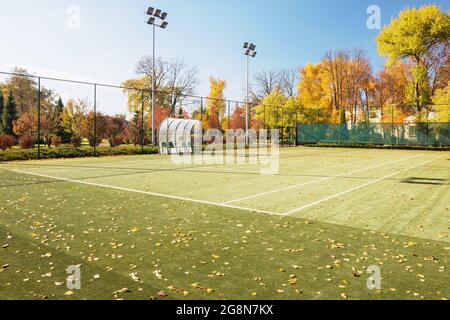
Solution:
<svg viewBox="0 0 450 320">
<path fill-rule="evenodd" d="M 383 64 L 366 27 L 369 5 L 389 23 L 406 6 L 448 1 L 422 0 L 1 0 L 0 70 L 24 66 L 44 76 L 118 84 L 135 76 L 135 64 L 151 53 L 145 9 L 169 13 L 158 30 L 157 55 L 181 57 L 199 68 L 199 94 L 208 77 L 228 82 L 227 98 L 242 99 L 245 59 L 242 43 L 258 46 L 252 71 L 299 67 L 319 61 L 330 49 L 363 48 L 374 69 Z M 67 8 L 81 9 L 81 29 L 66 27 Z"/>
</svg>

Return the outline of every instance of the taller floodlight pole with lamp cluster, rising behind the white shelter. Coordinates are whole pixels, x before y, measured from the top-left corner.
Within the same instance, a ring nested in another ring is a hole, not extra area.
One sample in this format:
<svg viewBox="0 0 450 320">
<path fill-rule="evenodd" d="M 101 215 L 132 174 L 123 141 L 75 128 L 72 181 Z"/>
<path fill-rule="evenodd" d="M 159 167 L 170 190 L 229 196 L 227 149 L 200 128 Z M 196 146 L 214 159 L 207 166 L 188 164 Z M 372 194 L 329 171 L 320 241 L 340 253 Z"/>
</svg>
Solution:
<svg viewBox="0 0 450 320">
<path fill-rule="evenodd" d="M 165 29 L 168 26 L 168 22 L 164 21 L 167 18 L 167 12 L 162 12 L 161 9 L 155 9 L 149 7 L 147 9 L 147 15 L 150 18 L 147 24 L 153 26 L 153 57 L 152 57 L 152 146 L 156 145 L 156 135 L 155 135 L 155 103 L 156 103 L 156 71 L 155 71 L 155 33 L 156 27 Z M 142 115 L 143 117 L 144 115 Z"/>
</svg>

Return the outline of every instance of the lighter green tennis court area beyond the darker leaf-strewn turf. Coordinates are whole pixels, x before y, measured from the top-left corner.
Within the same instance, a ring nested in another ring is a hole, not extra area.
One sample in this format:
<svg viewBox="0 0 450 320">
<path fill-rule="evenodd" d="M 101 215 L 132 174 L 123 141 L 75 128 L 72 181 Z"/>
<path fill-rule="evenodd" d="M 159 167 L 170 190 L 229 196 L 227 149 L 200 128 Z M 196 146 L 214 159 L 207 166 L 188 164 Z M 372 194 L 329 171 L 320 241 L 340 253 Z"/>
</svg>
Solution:
<svg viewBox="0 0 450 320">
<path fill-rule="evenodd" d="M 3 165 L 122 192 L 450 242 L 450 153 L 283 149 L 276 175 L 254 164 L 175 165 L 167 156 Z M 151 208 L 149 208 L 151 210 Z"/>
</svg>

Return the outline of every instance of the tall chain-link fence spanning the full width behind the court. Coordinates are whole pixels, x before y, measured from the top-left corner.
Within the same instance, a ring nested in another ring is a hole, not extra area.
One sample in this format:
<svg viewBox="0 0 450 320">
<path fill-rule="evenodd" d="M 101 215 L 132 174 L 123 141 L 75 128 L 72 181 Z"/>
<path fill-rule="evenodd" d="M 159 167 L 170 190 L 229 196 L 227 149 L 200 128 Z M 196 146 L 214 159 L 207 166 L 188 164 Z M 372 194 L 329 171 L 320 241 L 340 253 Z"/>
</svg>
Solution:
<svg viewBox="0 0 450 320">
<path fill-rule="evenodd" d="M 36 152 L 37 157 L 76 149 L 85 155 L 155 152 L 158 130 L 167 118 L 202 122 L 203 131 L 278 129 L 280 144 L 362 144 L 450 146 L 448 106 L 307 108 L 224 99 L 155 94 L 130 88 L 0 72 L 3 108 L 0 146 Z M 8 109 L 9 108 L 9 109 Z M 344 112 L 345 111 L 345 112 Z M 7 113 L 7 114 L 5 114 Z M 155 135 L 153 139 L 153 135 Z M 6 142 L 5 142 L 6 141 Z M 69 153 L 67 154 L 69 156 Z"/>
</svg>

